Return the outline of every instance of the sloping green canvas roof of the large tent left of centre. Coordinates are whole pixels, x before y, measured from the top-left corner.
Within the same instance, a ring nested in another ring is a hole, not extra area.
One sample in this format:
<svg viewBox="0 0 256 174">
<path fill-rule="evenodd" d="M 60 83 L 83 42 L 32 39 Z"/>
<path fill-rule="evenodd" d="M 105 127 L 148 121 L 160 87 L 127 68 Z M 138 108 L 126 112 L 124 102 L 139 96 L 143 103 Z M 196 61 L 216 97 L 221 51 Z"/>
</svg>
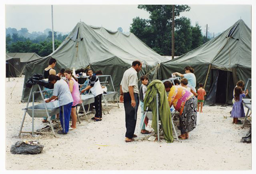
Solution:
<svg viewBox="0 0 256 174">
<path fill-rule="evenodd" d="M 149 48 L 134 34 L 112 32 L 103 27 L 78 22 L 68 37 L 49 56 L 55 58 L 63 67 L 83 69 L 89 64 L 116 60 L 117 63 L 131 65 L 136 59 L 148 65 L 167 61 Z M 110 62 L 111 63 L 111 62 Z M 112 62 L 113 63 L 113 62 Z"/>
</svg>

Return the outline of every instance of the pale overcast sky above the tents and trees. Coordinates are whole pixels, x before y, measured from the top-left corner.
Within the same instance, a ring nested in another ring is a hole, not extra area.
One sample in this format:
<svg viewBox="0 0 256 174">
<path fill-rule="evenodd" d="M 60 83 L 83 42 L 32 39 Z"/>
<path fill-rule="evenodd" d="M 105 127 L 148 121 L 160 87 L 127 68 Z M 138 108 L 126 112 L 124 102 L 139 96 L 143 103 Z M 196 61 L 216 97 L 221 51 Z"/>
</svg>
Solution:
<svg viewBox="0 0 256 174">
<path fill-rule="evenodd" d="M 83 21 L 88 25 L 103 26 L 116 31 L 122 27 L 129 32 L 132 19 L 139 16 L 148 19 L 149 13 L 137 8 L 138 5 L 53 5 L 53 26 L 55 31 L 70 32 L 77 24 Z M 182 12 L 180 16 L 191 19 L 195 26 L 196 21 L 205 34 L 205 25 L 209 32 L 219 33 L 233 25 L 238 19 L 243 19 L 251 28 L 251 5 L 189 5 L 191 10 Z M 28 28 L 43 32 L 52 28 L 51 5 L 5 5 L 5 27 L 20 30 Z"/>
</svg>

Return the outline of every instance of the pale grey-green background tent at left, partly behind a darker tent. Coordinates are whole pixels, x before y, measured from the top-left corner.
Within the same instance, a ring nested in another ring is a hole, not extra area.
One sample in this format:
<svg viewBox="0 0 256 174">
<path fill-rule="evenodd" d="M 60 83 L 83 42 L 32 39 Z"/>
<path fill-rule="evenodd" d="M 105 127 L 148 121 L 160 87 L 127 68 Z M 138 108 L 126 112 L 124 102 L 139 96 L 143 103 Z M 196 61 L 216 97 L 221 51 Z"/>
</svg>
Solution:
<svg viewBox="0 0 256 174">
<path fill-rule="evenodd" d="M 8 57 L 20 58 L 20 73 L 25 74 L 25 66 L 33 61 L 41 59 L 42 57 L 36 53 L 6 53 L 6 60 Z M 20 74 L 17 74 L 20 76 Z"/>
</svg>

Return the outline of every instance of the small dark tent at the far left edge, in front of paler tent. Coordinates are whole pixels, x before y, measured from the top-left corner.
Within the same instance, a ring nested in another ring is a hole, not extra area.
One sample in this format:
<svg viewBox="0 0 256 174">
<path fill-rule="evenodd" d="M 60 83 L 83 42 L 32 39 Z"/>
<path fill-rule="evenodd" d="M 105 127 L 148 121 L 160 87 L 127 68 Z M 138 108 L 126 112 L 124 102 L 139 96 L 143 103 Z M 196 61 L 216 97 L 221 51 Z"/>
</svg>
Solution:
<svg viewBox="0 0 256 174">
<path fill-rule="evenodd" d="M 18 77 L 21 75 L 20 58 L 14 58 L 6 54 L 6 77 Z M 10 76 L 9 76 L 10 75 Z"/>
</svg>

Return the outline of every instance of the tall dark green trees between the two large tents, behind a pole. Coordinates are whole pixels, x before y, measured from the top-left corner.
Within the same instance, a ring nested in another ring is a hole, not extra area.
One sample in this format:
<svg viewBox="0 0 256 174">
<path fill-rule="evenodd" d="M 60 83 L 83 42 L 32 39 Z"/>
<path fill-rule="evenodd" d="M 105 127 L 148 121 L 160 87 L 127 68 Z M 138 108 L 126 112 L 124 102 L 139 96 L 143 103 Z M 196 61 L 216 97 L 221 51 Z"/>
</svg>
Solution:
<svg viewBox="0 0 256 174">
<path fill-rule="evenodd" d="M 172 54 L 172 5 L 138 5 L 149 12 L 149 19 L 132 19 L 130 32 L 154 49 L 160 55 Z M 180 13 L 189 11 L 188 5 L 175 5 L 174 52 L 180 56 L 202 44 L 201 29 L 198 24 L 191 26 L 190 19 Z M 195 38 L 194 38 L 195 37 Z"/>
</svg>

